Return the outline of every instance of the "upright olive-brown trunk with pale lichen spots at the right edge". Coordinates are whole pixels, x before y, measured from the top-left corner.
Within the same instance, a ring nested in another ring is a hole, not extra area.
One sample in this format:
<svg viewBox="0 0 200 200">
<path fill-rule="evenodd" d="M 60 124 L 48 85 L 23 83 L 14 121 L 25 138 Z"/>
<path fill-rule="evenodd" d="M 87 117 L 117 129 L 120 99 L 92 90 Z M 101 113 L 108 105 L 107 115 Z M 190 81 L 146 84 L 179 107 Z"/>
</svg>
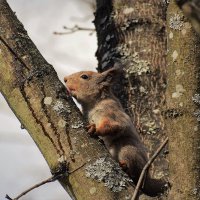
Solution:
<svg viewBox="0 0 200 200">
<path fill-rule="evenodd" d="M 175 1 L 168 7 L 165 123 L 169 135 L 169 199 L 200 199 L 200 41 Z M 193 99 L 193 100 L 192 100 Z M 195 102 L 197 105 L 195 105 Z"/>
</svg>

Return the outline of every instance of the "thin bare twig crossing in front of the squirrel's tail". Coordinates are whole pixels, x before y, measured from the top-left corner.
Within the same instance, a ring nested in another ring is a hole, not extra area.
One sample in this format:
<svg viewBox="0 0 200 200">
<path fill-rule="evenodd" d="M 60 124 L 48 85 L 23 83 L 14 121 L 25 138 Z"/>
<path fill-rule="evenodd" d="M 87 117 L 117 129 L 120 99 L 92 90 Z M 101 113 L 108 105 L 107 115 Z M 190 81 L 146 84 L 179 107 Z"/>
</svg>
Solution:
<svg viewBox="0 0 200 200">
<path fill-rule="evenodd" d="M 159 155 L 160 151 L 165 147 L 165 145 L 167 144 L 168 142 L 168 137 L 163 141 L 163 143 L 159 146 L 159 148 L 156 150 L 156 152 L 153 154 L 153 156 L 149 159 L 149 161 L 146 163 L 146 165 L 144 166 L 141 174 L 140 174 L 140 178 L 137 182 L 137 185 L 136 185 L 136 188 L 135 188 L 135 191 L 134 191 L 134 194 L 131 198 L 131 200 L 136 200 L 137 196 L 138 196 L 138 192 L 139 192 L 139 189 L 141 187 L 141 184 L 143 182 L 143 178 L 144 178 L 144 175 L 146 174 L 146 171 L 148 170 L 148 168 L 150 167 L 150 165 L 153 163 L 153 161 L 156 159 L 156 157 Z"/>
</svg>

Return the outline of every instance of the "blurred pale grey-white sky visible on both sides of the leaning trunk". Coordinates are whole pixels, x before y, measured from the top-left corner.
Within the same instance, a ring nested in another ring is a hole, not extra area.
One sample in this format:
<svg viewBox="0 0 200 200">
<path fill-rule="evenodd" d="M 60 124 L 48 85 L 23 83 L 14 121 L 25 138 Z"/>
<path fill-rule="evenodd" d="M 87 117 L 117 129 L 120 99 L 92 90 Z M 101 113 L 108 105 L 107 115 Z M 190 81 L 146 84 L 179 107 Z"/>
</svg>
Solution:
<svg viewBox="0 0 200 200">
<path fill-rule="evenodd" d="M 93 9 L 87 0 L 8 0 L 8 3 L 61 80 L 76 71 L 95 69 L 95 34 L 90 36 L 85 31 L 62 36 L 53 34 L 54 31 L 63 32 L 64 25 L 94 28 L 91 23 Z M 0 199 L 5 199 L 6 194 L 15 197 L 51 175 L 38 148 L 20 126 L 0 94 Z M 70 198 L 62 186 L 54 182 L 33 190 L 21 199 Z"/>
</svg>

